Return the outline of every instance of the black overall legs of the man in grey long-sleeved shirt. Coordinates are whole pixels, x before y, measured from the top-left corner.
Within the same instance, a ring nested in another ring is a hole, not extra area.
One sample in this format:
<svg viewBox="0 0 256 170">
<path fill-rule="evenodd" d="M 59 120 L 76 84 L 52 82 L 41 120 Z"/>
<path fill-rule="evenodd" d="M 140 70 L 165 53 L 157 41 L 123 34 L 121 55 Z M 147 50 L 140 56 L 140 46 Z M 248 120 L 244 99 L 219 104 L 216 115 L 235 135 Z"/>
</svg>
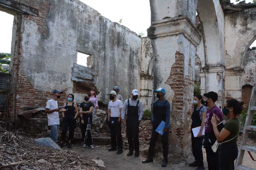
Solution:
<svg viewBox="0 0 256 170">
<path fill-rule="evenodd" d="M 139 151 L 140 143 L 139 143 L 139 123 L 132 124 L 126 122 L 126 135 L 129 144 L 129 151 Z"/>
</svg>

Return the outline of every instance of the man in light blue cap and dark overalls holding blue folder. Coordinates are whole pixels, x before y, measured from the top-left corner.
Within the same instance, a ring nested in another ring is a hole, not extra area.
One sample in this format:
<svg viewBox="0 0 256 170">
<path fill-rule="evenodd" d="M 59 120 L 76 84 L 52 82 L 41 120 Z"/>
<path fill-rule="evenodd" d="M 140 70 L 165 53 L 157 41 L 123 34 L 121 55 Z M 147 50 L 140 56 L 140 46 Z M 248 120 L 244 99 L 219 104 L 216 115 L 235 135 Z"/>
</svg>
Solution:
<svg viewBox="0 0 256 170">
<path fill-rule="evenodd" d="M 168 136 L 169 136 L 169 120 L 171 115 L 171 108 L 170 108 L 170 103 L 164 99 L 165 90 L 163 88 L 154 90 L 154 92 L 157 92 L 156 97 L 158 98 L 158 100 L 154 101 L 153 103 L 153 113 L 152 113 L 153 128 L 152 128 L 152 134 L 151 134 L 151 139 L 149 143 L 148 158 L 146 160 L 143 160 L 142 163 L 153 162 L 156 141 L 159 135 L 159 133 L 156 132 L 156 128 L 161 123 L 161 121 L 164 121 L 165 122 L 164 130 L 163 130 L 164 134 L 162 135 L 164 159 L 163 159 L 162 167 L 165 167 L 168 163 L 168 149 L 169 149 Z"/>
</svg>

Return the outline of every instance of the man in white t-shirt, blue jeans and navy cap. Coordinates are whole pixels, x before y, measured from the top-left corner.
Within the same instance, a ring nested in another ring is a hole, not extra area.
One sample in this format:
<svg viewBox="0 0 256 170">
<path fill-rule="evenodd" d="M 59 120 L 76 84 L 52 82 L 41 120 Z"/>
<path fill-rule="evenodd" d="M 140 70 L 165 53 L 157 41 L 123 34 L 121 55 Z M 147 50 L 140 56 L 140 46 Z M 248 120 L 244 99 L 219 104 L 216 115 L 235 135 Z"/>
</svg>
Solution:
<svg viewBox="0 0 256 170">
<path fill-rule="evenodd" d="M 57 100 L 60 99 L 63 91 L 55 89 L 52 92 L 52 99 L 46 102 L 45 113 L 47 113 L 48 126 L 50 126 L 50 138 L 56 143 L 58 142 L 58 132 L 60 126 L 59 110 Z"/>
</svg>

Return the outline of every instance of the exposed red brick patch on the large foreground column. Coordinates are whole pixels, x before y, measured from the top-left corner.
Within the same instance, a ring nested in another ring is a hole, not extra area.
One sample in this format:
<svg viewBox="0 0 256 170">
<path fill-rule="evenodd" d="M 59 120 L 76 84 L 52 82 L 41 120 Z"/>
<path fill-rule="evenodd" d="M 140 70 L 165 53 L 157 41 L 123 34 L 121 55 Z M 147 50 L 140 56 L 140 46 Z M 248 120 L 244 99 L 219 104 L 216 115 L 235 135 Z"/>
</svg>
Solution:
<svg viewBox="0 0 256 170">
<path fill-rule="evenodd" d="M 194 80 L 193 69 L 188 66 L 188 75 L 184 78 L 184 55 L 182 53 L 175 53 L 175 63 L 172 65 L 170 77 L 166 81 L 171 89 L 174 91 L 174 97 L 172 100 L 172 114 L 171 114 L 171 142 L 173 139 L 179 138 L 182 143 L 182 149 L 186 150 L 190 147 L 190 143 L 185 142 L 190 135 L 190 122 L 191 113 L 190 108 L 193 100 Z M 177 124 L 180 122 L 180 125 Z M 185 156 L 185 155 L 183 155 Z"/>
</svg>

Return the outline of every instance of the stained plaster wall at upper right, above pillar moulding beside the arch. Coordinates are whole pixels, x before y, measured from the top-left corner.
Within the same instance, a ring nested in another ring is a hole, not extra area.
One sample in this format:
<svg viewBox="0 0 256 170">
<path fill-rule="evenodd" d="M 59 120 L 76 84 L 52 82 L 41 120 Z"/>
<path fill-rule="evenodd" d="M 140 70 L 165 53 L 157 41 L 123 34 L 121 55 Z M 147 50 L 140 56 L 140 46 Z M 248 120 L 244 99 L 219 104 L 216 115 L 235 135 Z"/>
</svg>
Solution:
<svg viewBox="0 0 256 170">
<path fill-rule="evenodd" d="M 226 68 L 242 68 L 244 54 L 256 39 L 256 8 L 225 14 Z"/>
</svg>

